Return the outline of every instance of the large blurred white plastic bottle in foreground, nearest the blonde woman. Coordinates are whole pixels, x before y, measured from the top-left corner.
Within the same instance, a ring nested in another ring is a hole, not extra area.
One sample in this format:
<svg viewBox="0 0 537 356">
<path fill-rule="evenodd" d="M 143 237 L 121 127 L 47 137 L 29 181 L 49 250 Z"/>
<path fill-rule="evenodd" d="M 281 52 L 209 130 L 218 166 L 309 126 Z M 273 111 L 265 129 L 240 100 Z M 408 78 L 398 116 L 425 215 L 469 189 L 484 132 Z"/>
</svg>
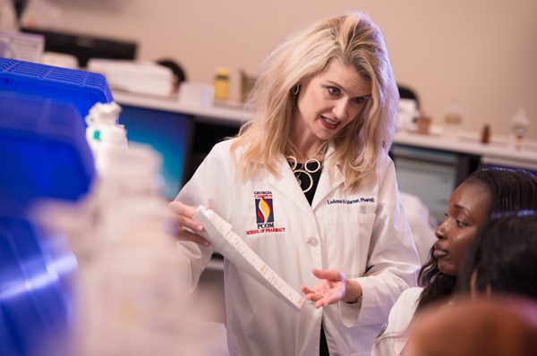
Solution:
<svg viewBox="0 0 537 356">
<path fill-rule="evenodd" d="M 83 356 L 183 354 L 190 268 L 178 254 L 167 200 L 158 195 L 161 158 L 131 144 L 98 185 L 96 257 L 86 266 Z M 190 353 L 197 354 L 197 353 Z"/>
</svg>

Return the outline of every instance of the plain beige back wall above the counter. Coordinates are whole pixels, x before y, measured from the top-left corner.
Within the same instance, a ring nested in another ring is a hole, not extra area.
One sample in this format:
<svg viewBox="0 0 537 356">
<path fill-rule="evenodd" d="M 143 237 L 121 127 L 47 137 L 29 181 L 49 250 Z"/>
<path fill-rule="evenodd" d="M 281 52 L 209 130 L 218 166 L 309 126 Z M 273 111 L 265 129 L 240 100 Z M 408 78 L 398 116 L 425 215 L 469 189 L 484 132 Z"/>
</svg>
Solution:
<svg viewBox="0 0 537 356">
<path fill-rule="evenodd" d="M 418 92 L 441 123 L 456 99 L 464 130 L 505 135 L 524 106 L 537 140 L 537 1 L 534 0 L 49 0 L 65 30 L 138 41 L 139 58 L 173 57 L 190 81 L 211 82 L 218 66 L 256 72 L 280 38 L 304 21 L 347 9 L 383 30 L 396 80 Z"/>
</svg>

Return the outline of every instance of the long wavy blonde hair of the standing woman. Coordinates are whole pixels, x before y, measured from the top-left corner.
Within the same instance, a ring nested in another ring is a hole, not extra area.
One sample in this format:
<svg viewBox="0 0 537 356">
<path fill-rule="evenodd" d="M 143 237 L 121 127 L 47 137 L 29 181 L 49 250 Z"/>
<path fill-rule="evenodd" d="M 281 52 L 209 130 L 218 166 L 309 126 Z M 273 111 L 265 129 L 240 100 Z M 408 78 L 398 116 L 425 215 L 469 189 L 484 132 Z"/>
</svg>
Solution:
<svg viewBox="0 0 537 356">
<path fill-rule="evenodd" d="M 243 126 L 231 146 L 245 149 L 237 165 L 243 181 L 261 164 L 278 175 L 277 157 L 294 152 L 289 140 L 297 100 L 294 85 L 336 59 L 371 83 L 371 97 L 359 117 L 332 139 L 335 149 L 325 166 L 333 174 L 339 165 L 345 189 L 353 191 L 376 178 L 373 168 L 387 154 L 395 133 L 399 95 L 379 27 L 367 14 L 352 12 L 296 31 L 261 64 L 247 104 L 257 118 Z"/>
</svg>

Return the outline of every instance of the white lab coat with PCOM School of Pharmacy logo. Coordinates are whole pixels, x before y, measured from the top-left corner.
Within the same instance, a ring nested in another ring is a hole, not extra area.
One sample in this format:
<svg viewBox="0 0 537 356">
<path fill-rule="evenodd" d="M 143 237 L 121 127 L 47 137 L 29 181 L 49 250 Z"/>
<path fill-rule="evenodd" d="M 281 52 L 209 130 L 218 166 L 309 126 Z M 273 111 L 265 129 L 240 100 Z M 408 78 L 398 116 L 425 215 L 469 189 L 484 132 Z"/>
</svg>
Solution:
<svg viewBox="0 0 537 356">
<path fill-rule="evenodd" d="M 363 290 L 361 306 L 340 301 L 315 309 L 306 301 L 299 312 L 225 260 L 230 353 L 319 354 L 322 319 L 330 354 L 369 354 L 397 297 L 416 284 L 420 266 L 393 162 L 382 158 L 376 182 L 353 193 L 343 189 L 344 177 L 338 170 L 333 179 L 328 169 L 323 170 L 310 206 L 285 157 L 279 159 L 279 177 L 262 167 L 243 183 L 235 176 L 230 145 L 227 140 L 211 150 L 176 200 L 213 208 L 296 291 L 302 284 L 319 283 L 311 267 L 337 268 Z M 234 150 L 235 162 L 242 153 L 243 148 Z M 269 225 L 257 224 L 256 199 L 261 196 L 271 199 Z M 213 250 L 193 242 L 182 245 L 196 284 Z"/>
</svg>

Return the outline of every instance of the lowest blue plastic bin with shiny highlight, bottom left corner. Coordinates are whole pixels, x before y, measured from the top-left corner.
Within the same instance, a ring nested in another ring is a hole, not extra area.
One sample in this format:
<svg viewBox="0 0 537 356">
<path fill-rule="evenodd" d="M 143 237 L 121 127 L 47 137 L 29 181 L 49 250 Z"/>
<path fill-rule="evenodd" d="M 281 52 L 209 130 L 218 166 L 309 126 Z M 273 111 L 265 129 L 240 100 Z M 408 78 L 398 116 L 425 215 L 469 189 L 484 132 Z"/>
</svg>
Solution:
<svg viewBox="0 0 537 356">
<path fill-rule="evenodd" d="M 32 223 L 16 202 L 0 205 L 0 354 L 74 356 L 78 264 L 68 239 Z"/>
</svg>

